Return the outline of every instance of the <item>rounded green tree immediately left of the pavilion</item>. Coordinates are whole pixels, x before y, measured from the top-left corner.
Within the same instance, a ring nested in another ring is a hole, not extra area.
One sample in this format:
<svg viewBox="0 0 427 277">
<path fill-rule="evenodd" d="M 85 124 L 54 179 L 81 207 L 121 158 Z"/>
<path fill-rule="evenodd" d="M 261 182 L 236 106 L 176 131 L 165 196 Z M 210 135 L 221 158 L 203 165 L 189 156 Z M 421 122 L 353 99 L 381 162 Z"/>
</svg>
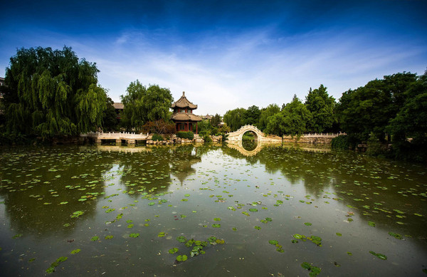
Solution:
<svg viewBox="0 0 427 277">
<path fill-rule="evenodd" d="M 142 126 L 149 121 L 164 120 L 169 122 L 171 112 L 169 108 L 174 98 L 167 88 L 159 85 L 149 85 L 146 88 L 139 80 L 130 83 L 126 95 L 121 95 L 125 106 L 122 115 L 122 126 L 127 130 L 142 130 Z"/>
</svg>

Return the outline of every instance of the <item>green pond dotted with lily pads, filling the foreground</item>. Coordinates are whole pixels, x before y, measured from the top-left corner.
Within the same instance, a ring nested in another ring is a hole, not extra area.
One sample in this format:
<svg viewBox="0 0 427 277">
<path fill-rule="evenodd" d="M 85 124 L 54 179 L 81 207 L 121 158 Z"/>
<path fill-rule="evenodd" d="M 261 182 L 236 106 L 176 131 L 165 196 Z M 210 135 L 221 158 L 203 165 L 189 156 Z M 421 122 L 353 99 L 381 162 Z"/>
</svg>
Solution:
<svg viewBox="0 0 427 277">
<path fill-rule="evenodd" d="M 0 154 L 1 276 L 426 276 L 424 164 L 295 145 Z"/>
</svg>

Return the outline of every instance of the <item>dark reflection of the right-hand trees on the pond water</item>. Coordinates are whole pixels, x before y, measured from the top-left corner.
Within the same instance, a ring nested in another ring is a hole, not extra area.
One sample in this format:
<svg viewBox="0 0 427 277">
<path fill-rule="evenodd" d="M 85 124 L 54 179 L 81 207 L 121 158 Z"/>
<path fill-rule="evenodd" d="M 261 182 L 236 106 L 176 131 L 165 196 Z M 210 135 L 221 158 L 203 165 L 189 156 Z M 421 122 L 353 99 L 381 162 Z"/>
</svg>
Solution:
<svg viewBox="0 0 427 277">
<path fill-rule="evenodd" d="M 302 183 L 307 197 L 301 201 L 306 204 L 311 204 L 311 199 L 324 199 L 327 203 L 339 201 L 365 221 L 378 221 L 385 226 L 397 223 L 401 225 L 399 229 L 413 236 L 426 236 L 423 229 L 427 223 L 425 166 L 330 149 L 305 150 L 297 145 L 262 147 L 253 156 L 237 152 L 234 146 L 223 147 L 223 152 L 248 164 L 263 164 L 268 174 L 280 172 L 295 186 Z M 343 215 L 342 219 L 347 217 Z"/>
</svg>

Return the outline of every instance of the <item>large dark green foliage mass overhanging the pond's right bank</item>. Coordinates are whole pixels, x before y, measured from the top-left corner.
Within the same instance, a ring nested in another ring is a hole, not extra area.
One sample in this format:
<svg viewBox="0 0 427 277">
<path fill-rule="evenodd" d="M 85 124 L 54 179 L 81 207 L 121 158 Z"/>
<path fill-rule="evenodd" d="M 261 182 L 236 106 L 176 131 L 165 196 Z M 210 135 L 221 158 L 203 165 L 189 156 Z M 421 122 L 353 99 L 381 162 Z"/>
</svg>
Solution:
<svg viewBox="0 0 427 277">
<path fill-rule="evenodd" d="M 369 140 L 368 154 L 427 160 L 427 74 L 396 73 L 342 94 L 339 122 L 351 142 Z M 386 133 L 392 149 L 386 152 Z M 390 136 L 391 135 L 391 136 Z"/>
</svg>

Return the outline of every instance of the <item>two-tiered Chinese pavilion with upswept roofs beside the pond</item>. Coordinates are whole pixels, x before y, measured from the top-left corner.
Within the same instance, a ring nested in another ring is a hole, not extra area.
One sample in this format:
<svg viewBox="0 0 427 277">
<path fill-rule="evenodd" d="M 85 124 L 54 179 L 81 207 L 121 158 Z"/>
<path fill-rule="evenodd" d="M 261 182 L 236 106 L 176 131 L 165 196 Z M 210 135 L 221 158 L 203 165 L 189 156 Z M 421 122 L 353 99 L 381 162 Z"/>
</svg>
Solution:
<svg viewBox="0 0 427 277">
<path fill-rule="evenodd" d="M 181 98 L 173 103 L 171 108 L 174 110 L 172 121 L 175 123 L 176 131 L 191 131 L 194 124 L 196 124 L 197 134 L 197 122 L 201 121 L 201 118 L 193 114 L 193 110 L 196 110 L 197 105 L 194 105 L 185 97 L 185 92 L 182 92 Z"/>
</svg>

